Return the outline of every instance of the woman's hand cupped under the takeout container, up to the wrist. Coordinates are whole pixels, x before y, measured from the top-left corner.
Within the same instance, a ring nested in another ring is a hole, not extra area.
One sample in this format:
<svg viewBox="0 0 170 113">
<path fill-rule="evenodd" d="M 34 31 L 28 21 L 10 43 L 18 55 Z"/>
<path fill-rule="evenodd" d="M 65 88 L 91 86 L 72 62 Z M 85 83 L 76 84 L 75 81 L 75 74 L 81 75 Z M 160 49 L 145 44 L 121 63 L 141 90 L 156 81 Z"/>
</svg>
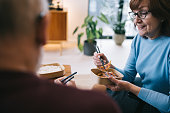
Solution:
<svg viewBox="0 0 170 113">
<path fill-rule="evenodd" d="M 109 77 L 109 80 L 114 83 L 114 85 L 107 85 L 107 87 L 113 91 L 129 91 L 131 83 L 124 80 L 117 80 L 113 77 Z"/>
</svg>

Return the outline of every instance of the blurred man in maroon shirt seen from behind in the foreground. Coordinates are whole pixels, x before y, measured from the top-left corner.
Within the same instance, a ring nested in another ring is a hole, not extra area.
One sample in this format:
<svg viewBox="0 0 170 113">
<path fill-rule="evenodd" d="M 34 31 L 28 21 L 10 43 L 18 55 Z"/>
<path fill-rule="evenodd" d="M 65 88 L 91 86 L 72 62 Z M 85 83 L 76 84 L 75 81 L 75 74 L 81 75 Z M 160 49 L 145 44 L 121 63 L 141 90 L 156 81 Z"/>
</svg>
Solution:
<svg viewBox="0 0 170 113">
<path fill-rule="evenodd" d="M 119 113 L 109 97 L 36 76 L 46 43 L 47 13 L 46 0 L 0 0 L 0 111 Z"/>
</svg>

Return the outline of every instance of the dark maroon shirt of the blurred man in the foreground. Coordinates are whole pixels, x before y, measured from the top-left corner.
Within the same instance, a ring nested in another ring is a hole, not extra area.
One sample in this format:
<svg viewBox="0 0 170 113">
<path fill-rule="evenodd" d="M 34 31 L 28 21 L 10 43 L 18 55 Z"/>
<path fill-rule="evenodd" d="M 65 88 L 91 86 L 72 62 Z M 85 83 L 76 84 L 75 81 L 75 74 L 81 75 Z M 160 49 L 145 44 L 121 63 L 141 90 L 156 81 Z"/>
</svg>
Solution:
<svg viewBox="0 0 170 113">
<path fill-rule="evenodd" d="M 120 113 L 112 99 L 40 80 L 32 73 L 0 71 L 0 113 Z"/>
</svg>

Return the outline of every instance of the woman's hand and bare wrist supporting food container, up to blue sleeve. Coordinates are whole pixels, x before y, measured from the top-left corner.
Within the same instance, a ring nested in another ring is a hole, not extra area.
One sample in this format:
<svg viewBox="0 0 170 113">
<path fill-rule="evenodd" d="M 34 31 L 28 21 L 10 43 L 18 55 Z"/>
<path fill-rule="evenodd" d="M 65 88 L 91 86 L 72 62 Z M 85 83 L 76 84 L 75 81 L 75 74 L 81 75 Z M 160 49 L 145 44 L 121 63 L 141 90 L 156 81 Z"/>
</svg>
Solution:
<svg viewBox="0 0 170 113">
<path fill-rule="evenodd" d="M 127 81 L 124 81 L 124 80 L 117 80 L 113 77 L 109 77 L 109 80 L 111 80 L 114 85 L 107 85 L 107 87 L 113 91 L 130 91 L 132 92 L 133 94 L 135 94 L 136 96 L 138 96 L 139 92 L 140 92 L 140 87 L 130 83 L 130 82 L 127 82 Z"/>
</svg>

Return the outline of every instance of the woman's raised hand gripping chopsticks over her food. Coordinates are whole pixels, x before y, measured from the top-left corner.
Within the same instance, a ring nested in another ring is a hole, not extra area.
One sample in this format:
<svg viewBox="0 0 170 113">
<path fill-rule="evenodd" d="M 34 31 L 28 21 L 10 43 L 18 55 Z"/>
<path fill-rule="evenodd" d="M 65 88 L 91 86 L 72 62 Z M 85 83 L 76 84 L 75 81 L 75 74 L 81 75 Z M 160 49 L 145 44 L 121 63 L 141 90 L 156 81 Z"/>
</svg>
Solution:
<svg viewBox="0 0 170 113">
<path fill-rule="evenodd" d="M 96 53 L 95 52 L 94 55 L 93 55 L 93 62 L 94 62 L 94 64 L 96 66 L 101 66 L 102 65 L 102 63 L 101 63 L 101 61 L 99 59 L 100 57 L 103 59 L 105 64 L 108 63 L 107 57 L 103 53 Z"/>
</svg>

